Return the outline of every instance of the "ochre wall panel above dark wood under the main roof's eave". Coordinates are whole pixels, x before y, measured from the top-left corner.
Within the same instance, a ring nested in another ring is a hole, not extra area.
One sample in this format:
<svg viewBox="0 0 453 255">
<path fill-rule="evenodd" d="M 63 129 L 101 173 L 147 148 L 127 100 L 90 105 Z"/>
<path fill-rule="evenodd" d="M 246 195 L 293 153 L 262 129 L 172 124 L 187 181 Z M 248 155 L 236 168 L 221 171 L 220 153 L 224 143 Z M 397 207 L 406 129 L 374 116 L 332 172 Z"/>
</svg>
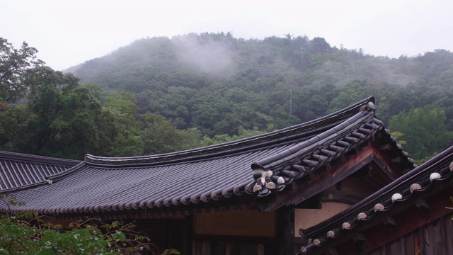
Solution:
<svg viewBox="0 0 453 255">
<path fill-rule="evenodd" d="M 275 213 L 200 213 L 193 221 L 193 255 L 274 255 Z"/>
</svg>

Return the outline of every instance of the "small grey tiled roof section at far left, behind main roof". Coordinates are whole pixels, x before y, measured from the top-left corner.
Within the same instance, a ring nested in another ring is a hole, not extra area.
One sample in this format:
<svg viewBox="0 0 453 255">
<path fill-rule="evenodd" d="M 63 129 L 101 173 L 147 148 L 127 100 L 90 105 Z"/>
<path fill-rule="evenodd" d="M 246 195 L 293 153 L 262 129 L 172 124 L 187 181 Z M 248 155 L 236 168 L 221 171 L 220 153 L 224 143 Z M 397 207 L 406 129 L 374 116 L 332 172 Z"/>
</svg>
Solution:
<svg viewBox="0 0 453 255">
<path fill-rule="evenodd" d="M 80 161 L 0 152 L 0 193 L 46 183 L 46 177 L 61 173 Z"/>
</svg>

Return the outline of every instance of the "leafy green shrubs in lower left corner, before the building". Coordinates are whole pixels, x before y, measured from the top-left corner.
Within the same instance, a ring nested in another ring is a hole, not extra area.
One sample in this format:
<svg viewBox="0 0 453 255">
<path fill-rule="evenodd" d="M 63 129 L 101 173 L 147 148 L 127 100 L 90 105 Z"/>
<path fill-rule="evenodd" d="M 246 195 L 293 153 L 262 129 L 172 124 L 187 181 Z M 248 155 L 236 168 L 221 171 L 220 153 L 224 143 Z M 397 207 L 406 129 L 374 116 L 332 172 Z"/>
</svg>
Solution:
<svg viewBox="0 0 453 255">
<path fill-rule="evenodd" d="M 7 205 L 20 205 L 0 195 Z M 100 219 L 71 222 L 68 227 L 45 222 L 35 212 L 0 216 L 0 254 L 160 254 L 134 225 Z M 168 249 L 164 254 L 179 254 Z"/>
</svg>

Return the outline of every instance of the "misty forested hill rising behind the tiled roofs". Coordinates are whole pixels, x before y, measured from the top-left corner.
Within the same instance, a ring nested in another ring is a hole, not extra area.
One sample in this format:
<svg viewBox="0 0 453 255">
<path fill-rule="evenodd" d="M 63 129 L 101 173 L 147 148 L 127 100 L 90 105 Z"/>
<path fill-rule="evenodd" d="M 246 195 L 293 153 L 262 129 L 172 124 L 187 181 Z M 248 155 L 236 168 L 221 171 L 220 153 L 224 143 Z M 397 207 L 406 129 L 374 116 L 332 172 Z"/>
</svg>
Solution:
<svg viewBox="0 0 453 255">
<path fill-rule="evenodd" d="M 82 83 L 130 91 L 140 111 L 210 136 L 240 126 L 283 128 L 372 95 L 386 123 L 430 103 L 444 108 L 448 121 L 453 115 L 447 50 L 394 59 L 331 47 L 323 38 L 191 33 L 137 40 L 72 72 Z"/>
</svg>

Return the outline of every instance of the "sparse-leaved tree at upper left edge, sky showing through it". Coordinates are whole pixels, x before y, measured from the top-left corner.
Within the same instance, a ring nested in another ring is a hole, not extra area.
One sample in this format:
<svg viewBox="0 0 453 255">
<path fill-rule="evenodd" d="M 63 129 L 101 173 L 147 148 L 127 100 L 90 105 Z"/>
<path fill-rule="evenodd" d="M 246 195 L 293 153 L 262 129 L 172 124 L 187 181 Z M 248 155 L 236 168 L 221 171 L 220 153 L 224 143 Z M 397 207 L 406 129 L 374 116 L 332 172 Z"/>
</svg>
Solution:
<svg viewBox="0 0 453 255">
<path fill-rule="evenodd" d="M 0 101 L 13 103 L 25 96 L 30 89 L 30 84 L 23 82 L 25 72 L 44 64 L 38 60 L 36 52 L 38 50 L 26 42 L 16 49 L 8 40 L 0 38 Z"/>
</svg>

